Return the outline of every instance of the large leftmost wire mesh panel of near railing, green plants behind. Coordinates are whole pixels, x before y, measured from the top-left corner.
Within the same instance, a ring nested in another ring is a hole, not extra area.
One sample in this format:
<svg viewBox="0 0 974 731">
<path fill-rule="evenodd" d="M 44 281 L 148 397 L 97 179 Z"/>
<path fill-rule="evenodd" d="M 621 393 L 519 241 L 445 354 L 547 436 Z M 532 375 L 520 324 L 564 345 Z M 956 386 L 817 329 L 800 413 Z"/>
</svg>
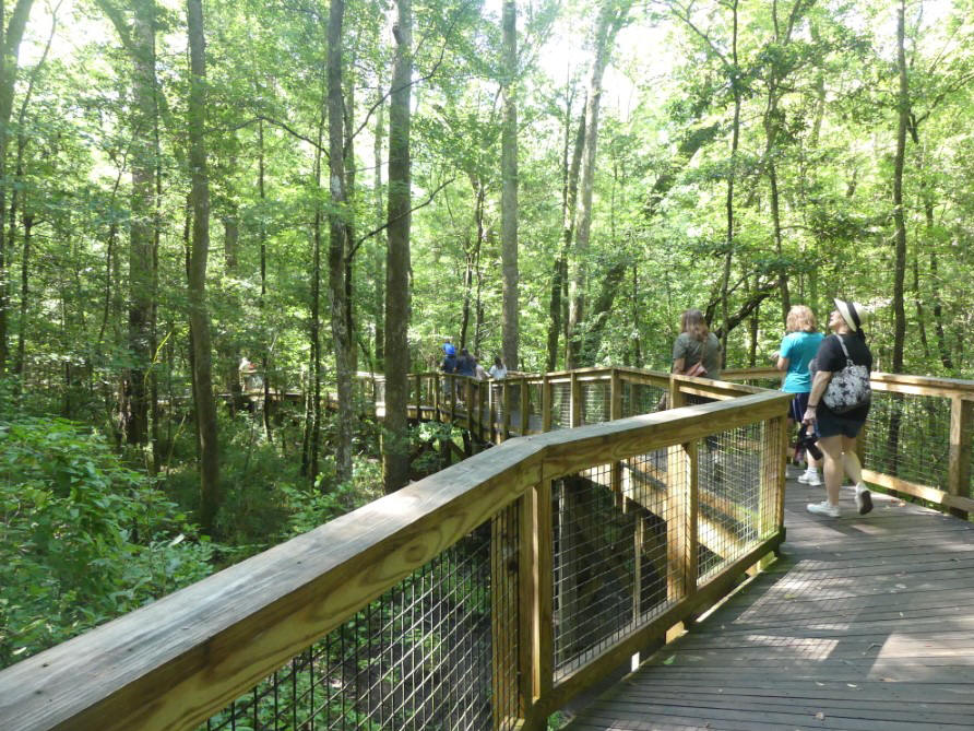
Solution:
<svg viewBox="0 0 974 731">
<path fill-rule="evenodd" d="M 516 505 L 417 569 L 201 728 L 513 728 L 519 712 Z"/>
</svg>

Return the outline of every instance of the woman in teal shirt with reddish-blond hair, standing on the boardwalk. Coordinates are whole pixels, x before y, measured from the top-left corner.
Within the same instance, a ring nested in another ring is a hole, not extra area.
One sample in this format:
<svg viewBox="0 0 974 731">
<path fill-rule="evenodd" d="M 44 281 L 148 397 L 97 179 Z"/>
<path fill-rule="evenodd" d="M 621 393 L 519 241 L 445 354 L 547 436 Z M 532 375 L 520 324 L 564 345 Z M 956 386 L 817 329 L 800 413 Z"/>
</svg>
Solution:
<svg viewBox="0 0 974 731">
<path fill-rule="evenodd" d="M 798 476 L 798 482 L 818 486 L 822 484 L 822 479 L 819 476 L 819 460 L 822 453 L 815 446 L 815 435 L 808 432 L 808 426 L 803 424 L 801 420 L 808 408 L 808 393 L 811 391 L 811 373 L 808 370 L 808 364 L 818 353 L 824 335 L 817 331 L 815 314 L 805 305 L 795 305 L 788 310 L 785 328 L 788 334 L 781 341 L 776 366 L 785 374 L 781 390 L 794 393 L 788 411 L 788 426 L 799 424 L 795 453 L 797 456 L 804 450 L 808 458 L 808 467 L 805 473 Z"/>
</svg>

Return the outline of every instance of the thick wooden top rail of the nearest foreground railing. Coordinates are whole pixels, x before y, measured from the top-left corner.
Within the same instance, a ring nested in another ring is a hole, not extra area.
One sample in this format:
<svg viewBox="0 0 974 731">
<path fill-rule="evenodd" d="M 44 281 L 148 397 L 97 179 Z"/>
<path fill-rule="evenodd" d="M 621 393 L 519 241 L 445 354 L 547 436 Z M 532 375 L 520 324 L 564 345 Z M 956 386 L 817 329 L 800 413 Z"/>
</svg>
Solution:
<svg viewBox="0 0 974 731">
<path fill-rule="evenodd" d="M 191 728 L 535 485 L 785 402 L 755 393 L 506 441 L 9 668 L 0 728 Z"/>
</svg>

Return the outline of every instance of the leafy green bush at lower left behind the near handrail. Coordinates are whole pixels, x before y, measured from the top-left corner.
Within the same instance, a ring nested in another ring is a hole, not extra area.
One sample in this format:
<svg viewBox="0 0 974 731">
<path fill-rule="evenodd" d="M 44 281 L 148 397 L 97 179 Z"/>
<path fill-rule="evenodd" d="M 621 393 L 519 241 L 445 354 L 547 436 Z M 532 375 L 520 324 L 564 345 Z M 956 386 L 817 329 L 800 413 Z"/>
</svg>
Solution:
<svg viewBox="0 0 974 731">
<path fill-rule="evenodd" d="M 0 665 L 210 574 L 213 546 L 79 424 L 0 422 Z"/>
</svg>

